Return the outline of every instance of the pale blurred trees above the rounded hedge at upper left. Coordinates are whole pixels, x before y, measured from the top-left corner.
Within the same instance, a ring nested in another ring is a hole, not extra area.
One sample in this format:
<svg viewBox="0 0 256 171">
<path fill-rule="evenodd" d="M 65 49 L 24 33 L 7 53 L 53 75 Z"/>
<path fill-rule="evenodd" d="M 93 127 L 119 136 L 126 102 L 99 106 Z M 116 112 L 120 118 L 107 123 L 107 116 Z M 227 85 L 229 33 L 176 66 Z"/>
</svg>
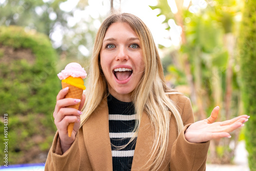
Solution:
<svg viewBox="0 0 256 171">
<path fill-rule="evenodd" d="M 80 0 L 77 6 L 69 12 L 62 11 L 60 8 L 60 4 L 66 2 L 66 0 L 2 1 L 0 3 L 0 26 L 16 25 L 25 27 L 26 30 L 45 33 L 52 39 L 53 47 L 59 54 L 65 51 L 63 58 L 67 57 L 72 61 L 74 58 L 82 59 L 82 61 L 88 60 L 90 55 L 84 56 L 79 53 L 78 47 L 86 45 L 89 51 L 92 49 L 93 38 L 97 30 L 93 24 L 95 19 L 88 14 L 86 17 L 82 16 L 79 22 L 70 25 L 71 20 L 77 20 L 73 19 L 75 16 L 77 17 L 77 12 L 81 13 L 87 10 L 88 0 Z M 58 36 L 58 43 L 55 42 L 56 39 L 53 39 L 56 32 L 61 34 Z M 18 44 L 14 40 L 11 41 Z"/>
</svg>

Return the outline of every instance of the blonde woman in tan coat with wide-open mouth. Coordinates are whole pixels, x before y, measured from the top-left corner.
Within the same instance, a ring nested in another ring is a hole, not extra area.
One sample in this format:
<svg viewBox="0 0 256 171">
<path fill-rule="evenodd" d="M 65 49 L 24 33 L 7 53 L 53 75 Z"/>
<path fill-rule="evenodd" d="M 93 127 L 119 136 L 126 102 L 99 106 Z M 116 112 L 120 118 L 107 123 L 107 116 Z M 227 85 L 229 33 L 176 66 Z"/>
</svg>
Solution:
<svg viewBox="0 0 256 171">
<path fill-rule="evenodd" d="M 77 103 L 67 89 L 57 95 L 46 170 L 205 170 L 209 141 L 249 118 L 215 122 L 217 106 L 194 123 L 190 100 L 166 86 L 151 32 L 132 14 L 104 20 L 88 75 L 78 111 L 65 108 Z"/>
</svg>

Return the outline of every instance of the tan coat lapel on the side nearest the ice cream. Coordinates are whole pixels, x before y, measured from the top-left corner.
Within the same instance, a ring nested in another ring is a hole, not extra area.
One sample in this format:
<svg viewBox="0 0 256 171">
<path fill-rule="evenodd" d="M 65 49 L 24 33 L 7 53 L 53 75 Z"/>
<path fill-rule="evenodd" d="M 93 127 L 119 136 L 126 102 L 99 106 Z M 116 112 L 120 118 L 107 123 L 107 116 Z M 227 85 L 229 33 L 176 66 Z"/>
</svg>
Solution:
<svg viewBox="0 0 256 171">
<path fill-rule="evenodd" d="M 103 99 L 83 124 L 83 137 L 93 170 L 113 170 L 108 102 Z"/>
</svg>

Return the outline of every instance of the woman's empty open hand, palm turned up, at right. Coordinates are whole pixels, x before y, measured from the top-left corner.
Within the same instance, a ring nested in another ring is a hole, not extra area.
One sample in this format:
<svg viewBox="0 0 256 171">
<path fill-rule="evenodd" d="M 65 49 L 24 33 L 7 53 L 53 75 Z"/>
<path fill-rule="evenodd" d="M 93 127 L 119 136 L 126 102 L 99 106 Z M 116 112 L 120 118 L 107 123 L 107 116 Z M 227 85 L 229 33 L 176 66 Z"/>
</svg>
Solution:
<svg viewBox="0 0 256 171">
<path fill-rule="evenodd" d="M 191 124 L 185 131 L 185 138 L 188 142 L 200 143 L 212 139 L 228 137 L 230 132 L 244 126 L 249 116 L 242 115 L 223 122 L 215 122 L 219 114 L 219 106 L 212 110 L 209 118 Z"/>
</svg>

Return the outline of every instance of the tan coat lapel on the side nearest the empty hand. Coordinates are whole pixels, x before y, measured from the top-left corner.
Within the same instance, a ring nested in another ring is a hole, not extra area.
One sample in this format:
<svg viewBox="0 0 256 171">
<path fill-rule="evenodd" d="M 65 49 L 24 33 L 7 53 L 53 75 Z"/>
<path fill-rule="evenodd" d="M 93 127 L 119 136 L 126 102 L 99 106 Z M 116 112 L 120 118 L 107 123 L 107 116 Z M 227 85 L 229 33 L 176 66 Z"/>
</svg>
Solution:
<svg viewBox="0 0 256 171">
<path fill-rule="evenodd" d="M 143 112 L 134 151 L 132 170 L 150 170 L 147 166 L 151 165 L 153 160 L 150 160 L 148 163 L 147 161 L 150 159 L 154 140 L 153 127 L 150 123 L 150 118 Z"/>
</svg>

